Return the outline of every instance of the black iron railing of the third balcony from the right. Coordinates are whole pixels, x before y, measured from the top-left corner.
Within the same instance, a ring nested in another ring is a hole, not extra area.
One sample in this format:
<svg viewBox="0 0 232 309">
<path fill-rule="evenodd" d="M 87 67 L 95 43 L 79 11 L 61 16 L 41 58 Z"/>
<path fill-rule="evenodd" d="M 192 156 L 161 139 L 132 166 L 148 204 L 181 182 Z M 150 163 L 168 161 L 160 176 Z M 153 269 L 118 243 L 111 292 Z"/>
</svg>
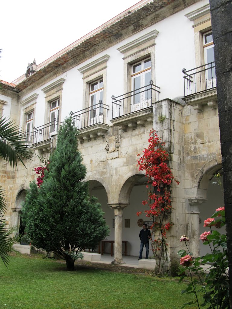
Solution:
<svg viewBox="0 0 232 309">
<path fill-rule="evenodd" d="M 103 104 L 101 100 L 99 103 L 84 108 L 78 112 L 70 112 L 74 125 L 77 129 L 86 128 L 90 125 L 103 123 L 107 125 L 109 105 Z"/>
</svg>

